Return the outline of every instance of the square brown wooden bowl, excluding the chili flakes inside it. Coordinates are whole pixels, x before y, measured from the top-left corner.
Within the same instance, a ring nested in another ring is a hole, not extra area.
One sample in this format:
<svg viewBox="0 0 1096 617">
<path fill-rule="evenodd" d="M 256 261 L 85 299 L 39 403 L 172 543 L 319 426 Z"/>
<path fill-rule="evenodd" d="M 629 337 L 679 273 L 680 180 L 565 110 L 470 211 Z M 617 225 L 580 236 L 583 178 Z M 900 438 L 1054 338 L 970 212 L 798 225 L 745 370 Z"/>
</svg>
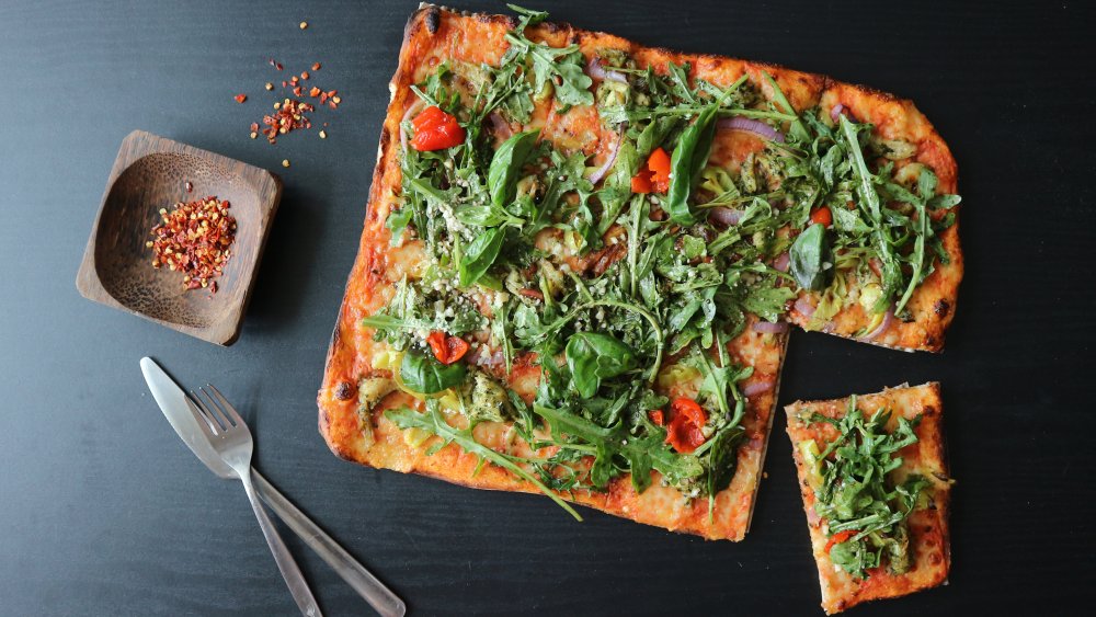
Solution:
<svg viewBox="0 0 1096 617">
<path fill-rule="evenodd" d="M 186 183 L 193 185 L 186 192 Z M 217 293 L 187 290 L 183 274 L 152 267 L 160 208 L 214 195 L 231 204 L 236 239 Z M 83 297 L 217 343 L 232 344 L 282 197 L 273 173 L 135 130 L 122 141 L 76 285 Z"/>
</svg>

